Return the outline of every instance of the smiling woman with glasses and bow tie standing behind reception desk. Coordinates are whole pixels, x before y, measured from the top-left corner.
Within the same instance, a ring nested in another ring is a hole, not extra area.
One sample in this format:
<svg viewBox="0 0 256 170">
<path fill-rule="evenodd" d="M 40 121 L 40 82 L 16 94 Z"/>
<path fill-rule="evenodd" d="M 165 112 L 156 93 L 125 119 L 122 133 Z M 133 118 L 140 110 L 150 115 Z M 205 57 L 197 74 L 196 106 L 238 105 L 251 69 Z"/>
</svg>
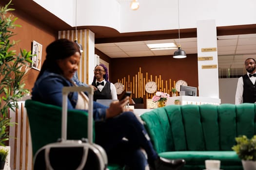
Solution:
<svg viewBox="0 0 256 170">
<path fill-rule="evenodd" d="M 118 99 L 117 90 L 113 83 L 108 81 L 108 69 L 100 64 L 94 68 L 93 86 L 95 86 L 93 100 L 97 99 Z"/>
</svg>

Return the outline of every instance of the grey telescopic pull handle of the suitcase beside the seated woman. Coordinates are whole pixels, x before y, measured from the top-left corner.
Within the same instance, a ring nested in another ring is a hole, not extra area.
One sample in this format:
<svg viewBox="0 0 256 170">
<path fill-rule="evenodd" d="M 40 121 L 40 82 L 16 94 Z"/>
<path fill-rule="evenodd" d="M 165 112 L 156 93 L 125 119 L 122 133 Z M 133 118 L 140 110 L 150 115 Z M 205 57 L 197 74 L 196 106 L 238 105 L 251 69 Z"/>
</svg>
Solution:
<svg viewBox="0 0 256 170">
<path fill-rule="evenodd" d="M 67 111 L 68 111 L 68 93 L 87 92 L 89 98 L 88 109 L 88 143 L 93 143 L 93 92 L 91 86 L 68 86 L 62 88 L 62 120 L 61 120 L 61 139 L 67 140 Z"/>
</svg>

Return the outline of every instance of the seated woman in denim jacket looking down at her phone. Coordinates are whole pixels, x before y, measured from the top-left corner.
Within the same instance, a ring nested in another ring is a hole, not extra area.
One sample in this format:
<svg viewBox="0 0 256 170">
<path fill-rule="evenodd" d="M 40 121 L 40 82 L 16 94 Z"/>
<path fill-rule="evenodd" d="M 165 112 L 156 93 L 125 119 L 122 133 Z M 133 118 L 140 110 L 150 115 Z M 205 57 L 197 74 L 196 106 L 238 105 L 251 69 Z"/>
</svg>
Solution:
<svg viewBox="0 0 256 170">
<path fill-rule="evenodd" d="M 46 48 L 46 60 L 32 90 L 32 100 L 62 105 L 62 87 L 76 85 L 73 76 L 80 62 L 80 50 L 67 39 L 52 42 Z M 109 162 L 131 170 L 179 170 L 183 159 L 169 160 L 158 156 L 144 126 L 133 112 L 125 109 L 129 97 L 112 102 L 110 107 L 94 102 L 95 143 L 102 146 Z M 68 109 L 88 109 L 88 97 L 82 93 L 68 95 Z M 128 140 L 122 140 L 123 137 Z M 141 152 L 145 150 L 147 156 Z M 147 158 L 146 158 L 147 157 Z"/>
</svg>

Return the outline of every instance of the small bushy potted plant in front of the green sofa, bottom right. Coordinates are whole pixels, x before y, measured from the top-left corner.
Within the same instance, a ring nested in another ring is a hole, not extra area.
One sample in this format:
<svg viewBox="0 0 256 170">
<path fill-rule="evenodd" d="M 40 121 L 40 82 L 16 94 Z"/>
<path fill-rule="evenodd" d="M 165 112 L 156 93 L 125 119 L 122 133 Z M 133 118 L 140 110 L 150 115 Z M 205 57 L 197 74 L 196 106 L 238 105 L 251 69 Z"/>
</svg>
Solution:
<svg viewBox="0 0 256 170">
<path fill-rule="evenodd" d="M 256 135 L 251 139 L 245 135 L 236 137 L 236 143 L 232 149 L 242 160 L 244 170 L 256 170 Z"/>
</svg>

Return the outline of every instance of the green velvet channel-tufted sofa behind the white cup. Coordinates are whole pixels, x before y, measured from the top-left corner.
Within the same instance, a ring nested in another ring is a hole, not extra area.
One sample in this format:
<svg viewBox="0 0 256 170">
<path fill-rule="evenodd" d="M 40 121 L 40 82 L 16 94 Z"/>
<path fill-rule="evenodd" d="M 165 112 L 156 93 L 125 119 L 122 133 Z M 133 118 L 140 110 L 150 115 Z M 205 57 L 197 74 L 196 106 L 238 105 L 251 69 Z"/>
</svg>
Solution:
<svg viewBox="0 0 256 170">
<path fill-rule="evenodd" d="M 203 170 L 206 159 L 223 170 L 243 170 L 232 150 L 235 137 L 256 133 L 256 105 L 168 105 L 142 114 L 154 148 L 162 157 L 183 158 L 183 170 Z"/>
</svg>

